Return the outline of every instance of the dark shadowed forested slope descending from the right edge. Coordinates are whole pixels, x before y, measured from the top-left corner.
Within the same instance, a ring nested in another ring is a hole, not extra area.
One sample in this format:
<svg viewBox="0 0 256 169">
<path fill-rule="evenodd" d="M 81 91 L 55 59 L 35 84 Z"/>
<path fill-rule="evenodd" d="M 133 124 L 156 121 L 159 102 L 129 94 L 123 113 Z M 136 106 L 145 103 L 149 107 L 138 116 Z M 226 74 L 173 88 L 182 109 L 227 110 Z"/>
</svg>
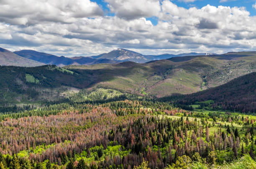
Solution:
<svg viewBox="0 0 256 169">
<path fill-rule="evenodd" d="M 202 102 L 203 106 L 239 112 L 256 112 L 256 72 L 238 77 L 218 87 L 169 99 L 178 104 L 191 105 Z M 168 100 L 165 98 L 164 100 Z M 210 105 L 207 100 L 213 100 Z M 205 102 L 205 103 L 204 103 Z"/>
</svg>

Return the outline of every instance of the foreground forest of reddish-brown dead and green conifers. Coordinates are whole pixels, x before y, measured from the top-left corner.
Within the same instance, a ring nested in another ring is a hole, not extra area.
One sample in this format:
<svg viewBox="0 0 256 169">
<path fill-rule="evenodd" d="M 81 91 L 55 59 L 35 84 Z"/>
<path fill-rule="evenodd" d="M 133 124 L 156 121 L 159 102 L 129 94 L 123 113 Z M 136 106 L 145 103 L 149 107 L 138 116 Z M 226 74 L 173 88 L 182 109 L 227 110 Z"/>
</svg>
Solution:
<svg viewBox="0 0 256 169">
<path fill-rule="evenodd" d="M 256 156 L 256 117 L 187 111 L 171 102 L 49 104 L 0 119 L 2 168 L 185 168 L 192 161 L 217 167 Z"/>
</svg>

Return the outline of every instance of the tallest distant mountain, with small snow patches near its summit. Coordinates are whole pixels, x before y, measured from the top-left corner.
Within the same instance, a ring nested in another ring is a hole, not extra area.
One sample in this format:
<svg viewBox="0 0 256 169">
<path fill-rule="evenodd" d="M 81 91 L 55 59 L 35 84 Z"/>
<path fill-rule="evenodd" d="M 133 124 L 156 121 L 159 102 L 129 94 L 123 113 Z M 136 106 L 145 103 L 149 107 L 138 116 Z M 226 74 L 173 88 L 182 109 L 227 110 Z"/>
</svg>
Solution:
<svg viewBox="0 0 256 169">
<path fill-rule="evenodd" d="M 179 55 L 172 54 L 163 54 L 163 55 L 142 55 L 141 53 L 134 52 L 126 49 L 115 49 L 109 53 L 103 53 L 97 56 L 92 56 L 92 58 L 105 58 L 110 60 L 119 60 L 119 61 L 131 61 L 137 63 L 146 63 L 152 60 L 162 60 L 169 59 L 172 57 L 181 57 L 181 56 L 196 56 L 196 55 L 216 55 L 215 53 L 182 53 Z"/>
</svg>

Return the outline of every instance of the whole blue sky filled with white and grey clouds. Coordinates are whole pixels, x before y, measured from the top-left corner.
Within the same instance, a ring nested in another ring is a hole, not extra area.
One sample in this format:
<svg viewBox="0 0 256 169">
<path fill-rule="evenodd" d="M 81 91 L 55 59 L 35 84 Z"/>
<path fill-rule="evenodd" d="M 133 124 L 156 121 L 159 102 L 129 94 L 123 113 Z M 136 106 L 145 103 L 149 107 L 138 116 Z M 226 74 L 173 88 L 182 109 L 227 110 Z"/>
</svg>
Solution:
<svg viewBox="0 0 256 169">
<path fill-rule="evenodd" d="M 0 0 L 0 47 L 67 57 L 256 51 L 256 0 Z"/>
</svg>

